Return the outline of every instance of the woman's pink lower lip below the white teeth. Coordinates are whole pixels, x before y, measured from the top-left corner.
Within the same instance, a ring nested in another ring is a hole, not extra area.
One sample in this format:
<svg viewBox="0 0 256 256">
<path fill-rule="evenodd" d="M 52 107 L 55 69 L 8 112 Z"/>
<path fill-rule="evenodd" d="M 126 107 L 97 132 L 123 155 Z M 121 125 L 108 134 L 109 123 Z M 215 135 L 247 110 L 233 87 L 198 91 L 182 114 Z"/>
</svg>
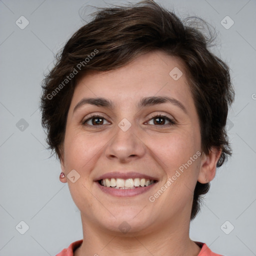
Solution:
<svg viewBox="0 0 256 256">
<path fill-rule="evenodd" d="M 110 186 L 102 186 L 97 181 L 96 183 L 104 193 L 108 193 L 114 196 L 134 196 L 150 190 L 157 182 L 154 182 L 148 186 L 137 186 L 133 189 L 116 189 Z"/>
</svg>

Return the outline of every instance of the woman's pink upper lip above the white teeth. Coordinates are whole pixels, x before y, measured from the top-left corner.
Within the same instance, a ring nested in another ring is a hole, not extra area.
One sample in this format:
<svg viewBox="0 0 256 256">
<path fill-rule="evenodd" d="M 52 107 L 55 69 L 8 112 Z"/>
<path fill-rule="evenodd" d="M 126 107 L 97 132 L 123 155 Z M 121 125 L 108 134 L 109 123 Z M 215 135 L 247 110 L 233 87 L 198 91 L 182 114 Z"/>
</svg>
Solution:
<svg viewBox="0 0 256 256">
<path fill-rule="evenodd" d="M 157 180 L 156 177 L 152 177 L 143 173 L 139 172 L 134 172 L 134 171 L 129 171 L 129 172 L 121 172 L 121 171 L 112 171 L 112 172 L 107 172 L 97 178 L 95 178 L 93 181 L 98 181 L 104 178 L 147 178 L 147 179 L 153 179 Z"/>
</svg>

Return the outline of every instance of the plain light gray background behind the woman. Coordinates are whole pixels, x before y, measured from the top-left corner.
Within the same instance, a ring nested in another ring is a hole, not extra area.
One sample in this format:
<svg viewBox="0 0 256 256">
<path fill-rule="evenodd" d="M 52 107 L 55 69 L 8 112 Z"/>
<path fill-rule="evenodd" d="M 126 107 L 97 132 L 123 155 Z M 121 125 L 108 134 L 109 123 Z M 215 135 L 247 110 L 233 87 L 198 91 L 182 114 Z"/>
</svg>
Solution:
<svg viewBox="0 0 256 256">
<path fill-rule="evenodd" d="M 43 72 L 84 23 L 78 11 L 86 3 L 117 1 L 0 0 L 0 256 L 55 255 L 82 238 L 79 211 L 67 184 L 58 179 L 58 161 L 45 149 L 38 103 Z M 228 116 L 233 155 L 211 181 L 204 206 L 191 222 L 190 238 L 227 256 L 256 255 L 256 0 L 161 4 L 174 7 L 181 18 L 198 15 L 216 28 L 213 51 L 230 66 L 236 92 Z M 87 8 L 84 15 L 91 11 Z M 15 23 L 21 15 L 29 21 L 24 29 Z M 226 15 L 234 21 L 229 29 L 221 24 Z M 24 234 L 21 220 L 29 226 Z"/>
</svg>

